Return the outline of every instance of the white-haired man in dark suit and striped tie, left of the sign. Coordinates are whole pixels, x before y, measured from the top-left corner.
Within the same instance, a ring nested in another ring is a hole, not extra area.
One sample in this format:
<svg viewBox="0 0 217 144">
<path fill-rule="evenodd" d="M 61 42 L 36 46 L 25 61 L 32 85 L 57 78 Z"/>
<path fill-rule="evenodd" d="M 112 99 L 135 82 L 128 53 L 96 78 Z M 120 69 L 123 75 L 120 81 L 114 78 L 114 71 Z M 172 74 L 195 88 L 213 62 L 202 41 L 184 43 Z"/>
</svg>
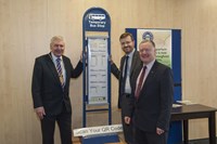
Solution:
<svg viewBox="0 0 217 144">
<path fill-rule="evenodd" d="M 72 144 L 69 80 L 81 74 L 82 58 L 74 69 L 71 60 L 63 55 L 65 43 L 61 36 L 51 39 L 50 50 L 35 61 L 31 83 L 34 108 L 41 122 L 43 144 L 54 144 L 55 121 L 62 144 Z"/>
</svg>

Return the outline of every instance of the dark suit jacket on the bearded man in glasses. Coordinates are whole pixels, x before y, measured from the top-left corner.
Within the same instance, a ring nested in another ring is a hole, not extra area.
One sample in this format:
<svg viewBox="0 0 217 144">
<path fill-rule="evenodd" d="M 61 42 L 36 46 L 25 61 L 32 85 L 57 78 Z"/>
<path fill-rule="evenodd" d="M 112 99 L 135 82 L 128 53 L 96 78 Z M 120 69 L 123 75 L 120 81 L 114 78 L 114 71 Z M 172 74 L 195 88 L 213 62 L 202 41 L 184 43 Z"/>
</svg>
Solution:
<svg viewBox="0 0 217 144">
<path fill-rule="evenodd" d="M 112 74 L 119 80 L 119 90 L 118 90 L 118 104 L 117 107 L 122 108 L 120 104 L 122 104 L 122 80 L 123 80 L 123 68 L 124 68 L 124 64 L 125 64 L 125 55 L 120 58 L 120 67 L 119 69 L 117 68 L 117 66 L 113 63 L 111 65 L 111 71 Z M 141 60 L 139 56 L 139 52 L 136 50 L 132 56 L 132 62 L 131 62 L 131 69 L 130 69 L 130 77 L 132 76 L 132 74 L 135 73 L 136 68 L 138 66 L 141 65 Z"/>
</svg>

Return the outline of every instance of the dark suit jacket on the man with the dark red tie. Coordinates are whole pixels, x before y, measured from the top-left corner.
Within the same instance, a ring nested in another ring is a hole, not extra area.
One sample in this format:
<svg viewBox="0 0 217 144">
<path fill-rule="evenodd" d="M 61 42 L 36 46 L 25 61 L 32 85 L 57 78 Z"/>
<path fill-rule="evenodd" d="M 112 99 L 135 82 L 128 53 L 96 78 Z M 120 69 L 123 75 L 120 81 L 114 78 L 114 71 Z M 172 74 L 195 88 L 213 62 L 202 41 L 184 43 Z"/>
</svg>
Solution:
<svg viewBox="0 0 217 144">
<path fill-rule="evenodd" d="M 136 82 L 142 65 L 136 70 L 131 78 L 132 90 L 136 90 Z M 165 131 L 169 128 L 170 112 L 174 97 L 174 81 L 171 69 L 155 61 L 150 70 L 140 96 L 130 100 L 131 106 L 128 116 L 133 113 L 135 126 L 143 131 L 155 132 L 156 128 Z"/>
</svg>

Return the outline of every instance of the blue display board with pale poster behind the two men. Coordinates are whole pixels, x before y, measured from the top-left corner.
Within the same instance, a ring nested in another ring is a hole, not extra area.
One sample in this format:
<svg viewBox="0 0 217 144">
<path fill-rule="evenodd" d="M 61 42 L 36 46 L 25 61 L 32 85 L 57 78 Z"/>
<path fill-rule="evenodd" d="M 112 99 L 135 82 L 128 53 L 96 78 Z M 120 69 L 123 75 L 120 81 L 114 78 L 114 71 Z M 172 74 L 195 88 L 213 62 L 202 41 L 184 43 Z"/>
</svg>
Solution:
<svg viewBox="0 0 217 144">
<path fill-rule="evenodd" d="M 168 28 L 126 28 L 135 37 L 138 47 L 144 38 L 152 39 L 156 44 L 156 58 L 158 62 L 171 67 L 174 73 L 174 102 L 181 100 L 181 29 Z M 181 121 L 170 123 L 168 144 L 182 142 Z"/>
</svg>

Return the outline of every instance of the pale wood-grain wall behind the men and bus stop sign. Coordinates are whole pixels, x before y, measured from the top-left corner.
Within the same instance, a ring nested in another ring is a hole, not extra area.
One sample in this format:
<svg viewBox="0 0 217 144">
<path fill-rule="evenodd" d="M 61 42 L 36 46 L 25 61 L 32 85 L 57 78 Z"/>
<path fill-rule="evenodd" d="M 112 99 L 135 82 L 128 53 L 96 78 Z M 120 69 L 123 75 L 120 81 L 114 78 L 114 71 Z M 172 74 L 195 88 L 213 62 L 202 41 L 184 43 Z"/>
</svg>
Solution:
<svg viewBox="0 0 217 144">
<path fill-rule="evenodd" d="M 65 55 L 76 65 L 82 50 L 82 15 L 91 6 L 101 6 L 111 15 L 111 48 L 117 65 L 123 55 L 118 38 L 126 27 L 182 29 L 182 97 L 217 107 L 215 0 L 0 0 L 1 144 L 40 143 L 30 93 L 35 57 L 50 51 L 52 36 L 62 35 Z M 112 76 L 114 123 L 120 122 L 117 87 Z M 81 77 L 71 81 L 73 128 L 81 127 Z M 89 121 L 98 125 L 93 116 Z M 205 119 L 192 120 L 190 127 L 190 139 L 207 138 Z M 58 129 L 55 140 L 60 143 Z"/>
</svg>

